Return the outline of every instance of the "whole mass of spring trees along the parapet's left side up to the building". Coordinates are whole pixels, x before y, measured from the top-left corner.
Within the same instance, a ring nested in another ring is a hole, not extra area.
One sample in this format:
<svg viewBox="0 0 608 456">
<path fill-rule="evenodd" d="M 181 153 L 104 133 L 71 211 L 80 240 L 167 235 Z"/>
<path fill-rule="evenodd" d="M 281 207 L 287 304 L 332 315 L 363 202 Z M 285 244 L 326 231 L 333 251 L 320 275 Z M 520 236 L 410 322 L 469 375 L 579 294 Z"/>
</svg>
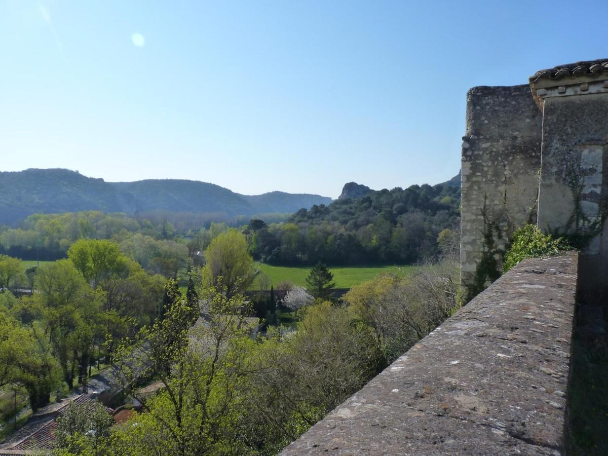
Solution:
<svg viewBox="0 0 608 456">
<path fill-rule="evenodd" d="M 146 413 L 117 427 L 98 451 L 277 454 L 454 311 L 453 266 L 435 264 L 415 279 L 381 277 L 353 290 L 350 305 L 308 306 L 295 331 L 271 327 L 256 340 L 250 305 L 227 294 L 221 278 L 199 290 L 195 326 L 186 300 L 174 300 L 164 319 L 116 350 L 116 378 Z M 162 389 L 139 395 L 129 387 L 141 378 Z"/>
</svg>

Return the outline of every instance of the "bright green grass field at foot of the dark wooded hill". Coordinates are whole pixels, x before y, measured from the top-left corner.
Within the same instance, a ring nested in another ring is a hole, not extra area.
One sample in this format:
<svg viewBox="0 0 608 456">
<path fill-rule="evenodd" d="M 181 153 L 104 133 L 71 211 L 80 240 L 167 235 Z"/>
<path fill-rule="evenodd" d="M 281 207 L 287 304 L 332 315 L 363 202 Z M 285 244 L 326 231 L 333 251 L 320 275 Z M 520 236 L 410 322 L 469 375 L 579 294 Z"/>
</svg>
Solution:
<svg viewBox="0 0 608 456">
<path fill-rule="evenodd" d="M 272 285 L 276 286 L 280 282 L 291 282 L 294 285 L 305 286 L 305 279 L 310 272 L 311 266 L 270 266 L 269 264 L 255 263 L 255 268 L 271 278 Z M 390 264 L 387 266 L 351 266 L 351 267 L 336 267 L 329 268 L 334 274 L 334 282 L 336 288 L 352 288 L 358 283 L 371 280 L 376 275 L 384 273 L 402 275 L 402 271 L 413 272 L 416 266 L 395 266 Z M 399 270 L 401 269 L 401 271 Z"/>
</svg>

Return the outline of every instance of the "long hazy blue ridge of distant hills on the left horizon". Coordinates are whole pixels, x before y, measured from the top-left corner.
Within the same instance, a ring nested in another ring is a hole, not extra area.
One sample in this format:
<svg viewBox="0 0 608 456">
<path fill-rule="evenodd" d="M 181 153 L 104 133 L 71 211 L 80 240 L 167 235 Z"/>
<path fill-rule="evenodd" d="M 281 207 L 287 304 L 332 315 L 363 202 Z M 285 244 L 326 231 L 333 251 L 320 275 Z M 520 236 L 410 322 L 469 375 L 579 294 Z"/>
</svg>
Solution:
<svg viewBox="0 0 608 456">
<path fill-rule="evenodd" d="M 252 216 L 295 212 L 314 204 L 330 204 L 319 195 L 270 192 L 240 195 L 219 185 L 181 179 L 105 182 L 65 169 L 0 172 L 0 224 L 12 224 L 33 213 L 170 212 Z"/>
</svg>

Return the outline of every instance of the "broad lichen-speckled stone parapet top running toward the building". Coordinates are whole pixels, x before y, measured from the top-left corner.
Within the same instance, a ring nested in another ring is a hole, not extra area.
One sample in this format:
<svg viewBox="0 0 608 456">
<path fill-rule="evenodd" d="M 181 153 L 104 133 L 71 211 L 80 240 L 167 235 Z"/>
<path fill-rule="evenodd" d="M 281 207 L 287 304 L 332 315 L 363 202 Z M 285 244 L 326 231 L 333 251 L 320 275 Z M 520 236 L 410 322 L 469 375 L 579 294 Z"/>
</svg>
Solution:
<svg viewBox="0 0 608 456">
<path fill-rule="evenodd" d="M 577 261 L 524 260 L 282 455 L 560 454 Z"/>
</svg>

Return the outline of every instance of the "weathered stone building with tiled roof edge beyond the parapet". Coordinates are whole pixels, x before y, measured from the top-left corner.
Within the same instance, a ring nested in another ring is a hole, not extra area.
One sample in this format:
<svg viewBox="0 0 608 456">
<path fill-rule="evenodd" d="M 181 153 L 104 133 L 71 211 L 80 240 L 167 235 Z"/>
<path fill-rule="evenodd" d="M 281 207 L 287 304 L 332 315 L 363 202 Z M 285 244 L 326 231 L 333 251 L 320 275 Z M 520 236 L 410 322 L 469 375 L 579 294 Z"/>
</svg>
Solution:
<svg viewBox="0 0 608 456">
<path fill-rule="evenodd" d="M 537 71 L 528 84 L 467 94 L 461 280 L 497 278 L 514 230 L 536 223 L 582 248 L 587 286 L 608 281 L 608 58 Z"/>
</svg>

